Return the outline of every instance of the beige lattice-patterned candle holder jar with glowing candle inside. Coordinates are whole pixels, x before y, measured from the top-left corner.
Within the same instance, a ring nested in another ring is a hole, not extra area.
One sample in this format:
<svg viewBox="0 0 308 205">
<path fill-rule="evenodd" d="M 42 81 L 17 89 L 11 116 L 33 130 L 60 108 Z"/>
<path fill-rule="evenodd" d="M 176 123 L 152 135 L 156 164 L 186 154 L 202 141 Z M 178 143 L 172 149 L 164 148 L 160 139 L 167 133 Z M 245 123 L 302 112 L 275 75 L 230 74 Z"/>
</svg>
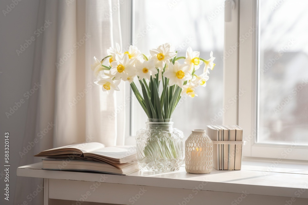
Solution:
<svg viewBox="0 0 308 205">
<path fill-rule="evenodd" d="M 188 173 L 208 174 L 213 166 L 213 142 L 205 130 L 193 130 L 185 141 L 185 169 Z"/>
</svg>

